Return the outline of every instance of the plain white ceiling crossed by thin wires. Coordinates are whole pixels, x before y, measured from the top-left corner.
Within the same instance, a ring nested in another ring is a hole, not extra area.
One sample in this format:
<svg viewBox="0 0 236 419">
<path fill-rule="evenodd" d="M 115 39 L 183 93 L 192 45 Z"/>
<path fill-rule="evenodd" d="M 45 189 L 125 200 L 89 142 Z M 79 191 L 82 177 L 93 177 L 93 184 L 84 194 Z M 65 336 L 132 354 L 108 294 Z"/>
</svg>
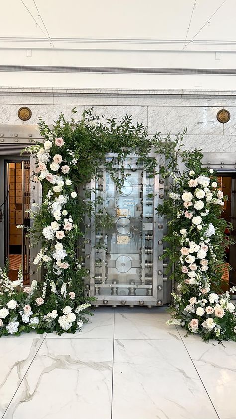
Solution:
<svg viewBox="0 0 236 419">
<path fill-rule="evenodd" d="M 185 40 L 194 0 L 23 0 L 51 38 Z M 223 0 L 197 0 L 188 39 Z M 236 1 L 226 0 L 195 40 L 236 41 Z M 1 2 L 0 39 L 46 38 L 21 0 Z M 21 40 L 19 39 L 19 46 Z"/>
</svg>

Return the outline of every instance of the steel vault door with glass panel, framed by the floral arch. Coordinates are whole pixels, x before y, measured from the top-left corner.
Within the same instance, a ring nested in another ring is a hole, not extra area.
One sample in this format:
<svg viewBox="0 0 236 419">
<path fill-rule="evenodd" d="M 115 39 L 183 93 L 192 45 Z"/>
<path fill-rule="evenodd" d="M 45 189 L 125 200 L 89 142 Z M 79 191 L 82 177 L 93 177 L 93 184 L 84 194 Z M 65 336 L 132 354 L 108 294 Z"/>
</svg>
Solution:
<svg viewBox="0 0 236 419">
<path fill-rule="evenodd" d="M 159 172 L 163 156 L 153 153 L 151 157 L 158 157 L 156 171 Z M 106 160 L 120 177 L 116 155 L 109 154 Z M 87 272 L 85 284 L 90 296 L 97 299 L 95 305 L 151 307 L 170 300 L 171 286 L 164 274 L 167 264 L 161 259 L 166 226 L 163 217 L 158 217 L 154 210 L 164 200 L 165 181 L 137 163 L 137 155 L 125 159 L 127 177 L 121 190 L 105 166 L 97 180 L 86 186 L 91 191 L 87 199 L 101 200 L 96 205 L 96 215 L 86 216 L 82 250 Z M 99 217 L 105 212 L 113 219 L 108 227 L 99 223 Z"/>
</svg>

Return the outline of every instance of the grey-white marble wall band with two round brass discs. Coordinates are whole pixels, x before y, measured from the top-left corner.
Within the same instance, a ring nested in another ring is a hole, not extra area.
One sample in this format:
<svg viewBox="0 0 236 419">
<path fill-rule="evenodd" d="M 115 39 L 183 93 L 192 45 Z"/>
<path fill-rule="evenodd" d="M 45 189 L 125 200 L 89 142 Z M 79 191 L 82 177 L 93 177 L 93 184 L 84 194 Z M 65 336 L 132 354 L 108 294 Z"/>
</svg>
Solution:
<svg viewBox="0 0 236 419">
<path fill-rule="evenodd" d="M 31 109 L 29 121 L 18 118 L 21 106 Z M 52 124 L 60 112 L 70 118 L 75 106 L 76 119 L 94 106 L 96 114 L 118 120 L 132 115 L 135 122 L 147 125 L 149 134 L 177 134 L 187 128 L 184 144 L 188 149 L 236 152 L 236 91 L 1 88 L 0 124 L 34 125 L 40 116 Z M 226 124 L 216 118 L 222 108 L 231 113 Z"/>
</svg>

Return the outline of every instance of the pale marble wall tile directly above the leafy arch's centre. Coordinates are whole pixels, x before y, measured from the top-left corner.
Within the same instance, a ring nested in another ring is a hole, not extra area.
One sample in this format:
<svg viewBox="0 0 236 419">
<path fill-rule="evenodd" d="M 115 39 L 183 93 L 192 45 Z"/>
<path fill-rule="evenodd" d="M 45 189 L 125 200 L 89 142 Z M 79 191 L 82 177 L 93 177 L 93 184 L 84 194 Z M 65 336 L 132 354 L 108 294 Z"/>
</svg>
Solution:
<svg viewBox="0 0 236 419">
<path fill-rule="evenodd" d="M 105 119 L 116 118 L 117 122 L 128 115 L 132 117 L 135 124 L 142 122 L 147 125 L 146 106 L 94 106 L 93 112 L 96 115 L 104 115 Z"/>
</svg>

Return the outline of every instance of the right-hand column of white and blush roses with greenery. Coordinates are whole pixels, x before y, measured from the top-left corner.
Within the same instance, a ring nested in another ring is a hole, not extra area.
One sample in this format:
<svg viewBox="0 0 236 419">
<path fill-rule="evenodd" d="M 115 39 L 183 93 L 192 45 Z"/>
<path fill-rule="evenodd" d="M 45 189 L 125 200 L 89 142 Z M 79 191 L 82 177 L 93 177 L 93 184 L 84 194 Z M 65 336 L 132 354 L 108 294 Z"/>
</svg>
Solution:
<svg viewBox="0 0 236 419">
<path fill-rule="evenodd" d="M 173 186 L 169 199 L 159 208 L 170 219 L 165 239 L 178 284 L 168 323 L 198 333 L 204 341 L 236 340 L 235 305 L 229 291 L 221 290 L 225 248 L 232 244 L 225 235 L 226 227 L 231 226 L 219 218 L 227 197 L 213 169 L 202 167 L 201 151 L 179 151 L 179 157 L 185 170 L 164 174 L 172 176 Z"/>
</svg>

